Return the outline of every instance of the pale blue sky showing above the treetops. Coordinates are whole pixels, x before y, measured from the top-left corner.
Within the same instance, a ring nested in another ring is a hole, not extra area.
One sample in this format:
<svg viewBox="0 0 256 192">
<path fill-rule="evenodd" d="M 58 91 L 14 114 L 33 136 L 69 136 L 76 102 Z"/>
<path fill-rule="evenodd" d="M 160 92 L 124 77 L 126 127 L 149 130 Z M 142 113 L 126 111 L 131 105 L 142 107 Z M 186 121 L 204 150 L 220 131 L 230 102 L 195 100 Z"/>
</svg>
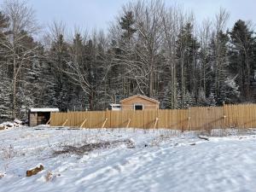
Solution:
<svg viewBox="0 0 256 192">
<path fill-rule="evenodd" d="M 3 2 L 3 0 L 0 0 Z M 40 23 L 47 25 L 52 20 L 62 20 L 67 26 L 80 26 L 92 30 L 108 29 L 108 23 L 129 0 L 28 0 L 37 12 Z M 165 0 L 194 10 L 196 20 L 212 18 L 220 7 L 230 12 L 231 27 L 238 19 L 256 23 L 256 0 Z"/>
</svg>

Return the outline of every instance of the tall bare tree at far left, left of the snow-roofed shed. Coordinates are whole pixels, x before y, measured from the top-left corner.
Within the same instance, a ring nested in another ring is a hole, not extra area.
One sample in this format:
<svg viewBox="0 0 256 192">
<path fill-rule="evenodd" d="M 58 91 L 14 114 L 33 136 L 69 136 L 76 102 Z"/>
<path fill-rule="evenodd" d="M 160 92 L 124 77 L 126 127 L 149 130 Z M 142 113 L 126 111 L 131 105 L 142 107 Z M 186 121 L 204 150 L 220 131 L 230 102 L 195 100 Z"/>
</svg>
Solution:
<svg viewBox="0 0 256 192">
<path fill-rule="evenodd" d="M 13 68 L 12 96 L 13 96 L 13 118 L 16 117 L 16 94 L 17 83 L 21 69 L 26 67 L 35 57 L 34 51 L 37 46 L 26 46 L 27 39 L 38 32 L 37 21 L 34 11 L 25 1 L 6 0 L 3 3 L 3 13 L 9 18 L 9 33 L 0 44 L 7 49 L 9 65 Z"/>
</svg>

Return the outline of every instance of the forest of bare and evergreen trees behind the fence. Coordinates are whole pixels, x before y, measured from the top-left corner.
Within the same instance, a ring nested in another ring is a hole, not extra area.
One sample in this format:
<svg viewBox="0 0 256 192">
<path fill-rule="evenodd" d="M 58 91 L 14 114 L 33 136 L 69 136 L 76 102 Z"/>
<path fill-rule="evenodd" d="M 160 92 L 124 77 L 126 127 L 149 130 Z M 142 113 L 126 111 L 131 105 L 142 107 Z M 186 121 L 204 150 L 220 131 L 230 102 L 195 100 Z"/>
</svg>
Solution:
<svg viewBox="0 0 256 192">
<path fill-rule="evenodd" d="M 182 5 L 137 0 L 120 8 L 108 31 L 89 32 L 61 20 L 41 26 L 26 1 L 7 0 L 0 7 L 0 120 L 26 118 L 28 108 L 105 110 L 135 94 L 160 108 L 254 102 L 253 23 L 229 28 L 229 18 L 220 8 L 199 23 Z"/>
</svg>

